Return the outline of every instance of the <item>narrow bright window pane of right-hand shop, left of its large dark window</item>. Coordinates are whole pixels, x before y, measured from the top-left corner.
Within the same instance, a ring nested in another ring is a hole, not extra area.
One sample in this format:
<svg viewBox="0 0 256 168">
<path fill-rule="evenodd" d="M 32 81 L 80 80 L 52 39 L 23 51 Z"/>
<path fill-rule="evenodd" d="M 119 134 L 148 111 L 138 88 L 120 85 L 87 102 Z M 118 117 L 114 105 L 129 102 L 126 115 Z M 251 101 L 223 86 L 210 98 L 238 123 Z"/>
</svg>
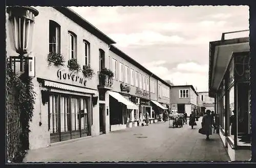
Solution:
<svg viewBox="0 0 256 168">
<path fill-rule="evenodd" d="M 236 132 L 236 110 L 234 109 L 234 86 L 231 86 L 229 89 L 229 109 L 228 109 L 228 117 L 229 117 L 229 128 L 228 128 L 228 136 L 234 141 L 234 134 Z"/>
</svg>

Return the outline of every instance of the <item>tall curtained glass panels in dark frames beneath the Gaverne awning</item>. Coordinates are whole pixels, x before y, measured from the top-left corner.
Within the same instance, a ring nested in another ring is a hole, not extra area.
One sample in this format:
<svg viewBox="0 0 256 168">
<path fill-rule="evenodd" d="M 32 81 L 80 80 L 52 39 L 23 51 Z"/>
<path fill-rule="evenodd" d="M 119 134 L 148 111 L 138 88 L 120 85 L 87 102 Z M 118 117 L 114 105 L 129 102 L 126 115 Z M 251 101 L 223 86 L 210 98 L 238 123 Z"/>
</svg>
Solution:
<svg viewBox="0 0 256 168">
<path fill-rule="evenodd" d="M 86 97 L 51 93 L 48 103 L 50 143 L 90 134 L 87 102 Z"/>
</svg>

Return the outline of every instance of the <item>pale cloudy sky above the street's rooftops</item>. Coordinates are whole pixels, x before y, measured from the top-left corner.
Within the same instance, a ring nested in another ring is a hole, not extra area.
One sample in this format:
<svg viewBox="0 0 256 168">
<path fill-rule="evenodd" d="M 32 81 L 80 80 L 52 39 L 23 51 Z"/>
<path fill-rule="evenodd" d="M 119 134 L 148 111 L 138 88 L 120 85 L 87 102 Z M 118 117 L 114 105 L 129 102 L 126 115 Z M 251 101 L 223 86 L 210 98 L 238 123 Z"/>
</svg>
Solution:
<svg viewBox="0 0 256 168">
<path fill-rule="evenodd" d="M 209 42 L 249 29 L 248 6 L 70 8 L 161 79 L 197 91 L 208 91 Z"/>
</svg>

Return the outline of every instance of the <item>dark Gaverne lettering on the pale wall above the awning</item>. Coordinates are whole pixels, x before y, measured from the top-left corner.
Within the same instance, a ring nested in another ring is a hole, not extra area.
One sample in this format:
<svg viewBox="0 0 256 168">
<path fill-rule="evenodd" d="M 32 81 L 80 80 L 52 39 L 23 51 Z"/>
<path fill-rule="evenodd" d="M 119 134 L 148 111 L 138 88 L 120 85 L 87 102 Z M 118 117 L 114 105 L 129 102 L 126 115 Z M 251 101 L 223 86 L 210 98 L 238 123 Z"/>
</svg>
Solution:
<svg viewBox="0 0 256 168">
<path fill-rule="evenodd" d="M 79 73 L 74 73 L 67 69 L 58 69 L 57 71 L 57 77 L 62 82 L 68 82 L 68 83 L 74 83 L 76 85 L 80 86 L 86 86 L 87 80 L 83 77 L 83 75 L 80 75 Z"/>
</svg>

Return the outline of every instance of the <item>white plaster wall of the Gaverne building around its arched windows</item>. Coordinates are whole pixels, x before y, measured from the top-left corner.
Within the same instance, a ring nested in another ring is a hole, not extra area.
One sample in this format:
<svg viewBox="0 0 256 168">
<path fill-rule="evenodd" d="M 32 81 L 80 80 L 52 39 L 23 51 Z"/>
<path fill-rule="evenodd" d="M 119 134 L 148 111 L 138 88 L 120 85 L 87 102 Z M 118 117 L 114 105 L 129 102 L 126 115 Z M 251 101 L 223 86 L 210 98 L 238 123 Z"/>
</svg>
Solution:
<svg viewBox="0 0 256 168">
<path fill-rule="evenodd" d="M 38 16 L 35 17 L 35 25 L 34 25 L 34 33 L 33 33 L 33 48 L 32 55 L 36 56 L 35 58 L 35 74 L 36 77 L 58 81 L 62 83 L 69 83 L 73 85 L 79 85 L 72 81 L 61 81 L 57 78 L 57 70 L 59 68 L 65 68 L 68 70 L 67 64 L 69 59 L 68 54 L 68 31 L 72 31 L 77 35 L 77 60 L 80 65 L 84 64 L 83 54 L 83 39 L 86 39 L 90 42 L 90 56 L 91 56 L 91 67 L 95 72 L 95 76 L 88 80 L 86 83 L 86 87 L 91 89 L 97 89 L 98 85 L 98 76 L 97 71 L 99 71 L 99 49 L 102 49 L 105 52 L 105 65 L 108 67 L 108 55 L 109 49 L 108 44 L 104 41 L 98 39 L 96 36 L 84 30 L 82 27 L 77 25 L 74 21 L 67 18 L 62 13 L 58 12 L 52 7 L 34 7 L 39 11 Z M 6 27 L 10 26 L 10 22 L 8 21 L 8 14 L 6 13 Z M 47 55 L 49 53 L 49 20 L 54 20 L 57 22 L 60 27 L 60 53 L 65 58 L 65 66 L 63 67 L 55 67 L 48 66 Z M 12 42 L 10 37 L 9 29 L 6 29 L 6 50 L 7 57 L 9 56 L 17 56 L 17 53 L 12 48 Z M 82 73 L 78 74 L 82 76 Z M 49 146 L 50 143 L 50 133 L 48 131 L 48 106 L 43 106 L 41 103 L 40 97 L 40 88 L 39 83 L 36 78 L 33 79 L 34 90 L 37 92 L 36 95 L 36 103 L 34 105 L 34 113 L 32 122 L 30 123 L 30 149 L 36 149 L 41 147 Z M 80 85 L 79 85 L 80 86 Z M 98 96 L 97 90 L 96 96 Z M 41 111 L 41 122 L 42 125 L 39 126 L 39 111 Z M 91 133 L 92 135 L 99 134 L 99 104 L 93 107 L 93 125 Z M 109 123 L 108 117 L 106 117 L 106 122 Z"/>
</svg>

